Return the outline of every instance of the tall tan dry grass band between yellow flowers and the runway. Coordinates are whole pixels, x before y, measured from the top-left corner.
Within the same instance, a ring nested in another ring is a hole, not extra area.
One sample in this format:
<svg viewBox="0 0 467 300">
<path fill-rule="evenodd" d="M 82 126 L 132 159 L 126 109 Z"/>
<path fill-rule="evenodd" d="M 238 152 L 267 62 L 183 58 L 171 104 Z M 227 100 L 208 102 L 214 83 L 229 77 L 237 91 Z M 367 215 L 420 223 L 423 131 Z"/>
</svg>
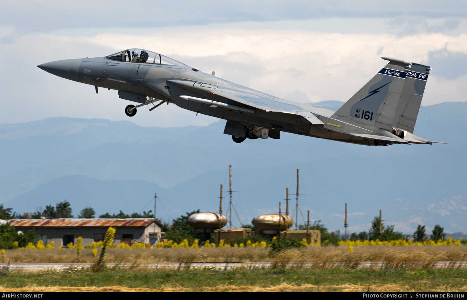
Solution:
<svg viewBox="0 0 467 300">
<path fill-rule="evenodd" d="M 16 249 L 7 250 L 3 261 L 12 263 L 92 263 L 92 249 L 76 255 L 74 249 Z M 100 250 L 99 250 L 100 251 Z M 282 251 L 269 256 L 262 248 L 111 248 L 107 262 L 412 262 L 412 261 L 467 261 L 467 245 L 461 246 L 358 246 L 350 256 L 347 246 L 307 247 Z"/>
</svg>

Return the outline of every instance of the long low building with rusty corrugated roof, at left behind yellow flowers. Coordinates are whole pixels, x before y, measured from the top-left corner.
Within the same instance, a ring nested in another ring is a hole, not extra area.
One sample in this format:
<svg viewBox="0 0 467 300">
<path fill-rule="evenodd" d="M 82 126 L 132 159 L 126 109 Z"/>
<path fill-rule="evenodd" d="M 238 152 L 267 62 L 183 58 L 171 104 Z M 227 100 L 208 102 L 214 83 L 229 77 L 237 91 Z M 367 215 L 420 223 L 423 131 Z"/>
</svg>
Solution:
<svg viewBox="0 0 467 300">
<path fill-rule="evenodd" d="M 154 219 L 15 219 L 9 220 L 16 231 L 34 229 L 44 244 L 55 246 L 76 243 L 83 237 L 83 245 L 104 239 L 109 227 L 116 228 L 115 244 L 132 245 L 134 241 L 154 244 L 162 240 L 162 224 Z"/>
</svg>

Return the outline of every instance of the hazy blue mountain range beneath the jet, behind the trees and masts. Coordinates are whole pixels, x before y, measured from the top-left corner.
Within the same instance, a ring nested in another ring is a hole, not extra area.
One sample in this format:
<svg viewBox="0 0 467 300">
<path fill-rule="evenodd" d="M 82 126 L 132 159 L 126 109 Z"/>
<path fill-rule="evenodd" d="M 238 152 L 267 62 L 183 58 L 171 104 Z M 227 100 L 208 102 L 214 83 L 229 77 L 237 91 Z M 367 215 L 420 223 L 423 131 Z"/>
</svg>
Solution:
<svg viewBox="0 0 467 300">
<path fill-rule="evenodd" d="M 422 106 L 414 134 L 452 144 L 387 147 L 288 133 L 236 144 L 223 134 L 225 120 L 171 128 L 73 118 L 1 124 L 0 202 L 23 213 L 67 200 L 75 216 L 86 206 L 99 215 L 154 209 L 157 193 L 156 216 L 171 221 L 196 209 L 218 211 L 219 185 L 228 190 L 232 165 L 239 226 L 277 212 L 279 202 L 284 211 L 286 188 L 292 214 L 300 169 L 298 223 L 310 210 L 312 221 L 342 231 L 347 203 L 350 232 L 368 230 L 379 209 L 404 233 L 417 224 L 467 231 L 466 117 L 466 102 Z"/>
</svg>

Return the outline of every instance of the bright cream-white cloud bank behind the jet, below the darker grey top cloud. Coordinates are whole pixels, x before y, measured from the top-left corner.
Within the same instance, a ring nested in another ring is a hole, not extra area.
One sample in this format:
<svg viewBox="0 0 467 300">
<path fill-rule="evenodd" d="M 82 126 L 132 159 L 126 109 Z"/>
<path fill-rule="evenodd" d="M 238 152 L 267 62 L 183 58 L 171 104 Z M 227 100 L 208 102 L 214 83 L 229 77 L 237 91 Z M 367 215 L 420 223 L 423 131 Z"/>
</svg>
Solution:
<svg viewBox="0 0 467 300">
<path fill-rule="evenodd" d="M 127 101 L 116 91 L 78 84 L 36 68 L 40 63 L 78 57 L 106 56 L 120 49 L 143 48 L 189 63 L 199 70 L 265 91 L 278 97 L 319 102 L 347 101 L 385 62 L 379 56 L 431 64 L 433 53 L 462 56 L 467 35 L 420 34 L 404 37 L 375 34 L 335 34 L 307 30 L 229 29 L 156 30 L 151 34 L 101 33 L 71 37 L 52 34 L 16 36 L 7 29 L 0 42 L 2 53 L 16 59 L 0 62 L 4 107 L 14 104 L 21 113 L 2 110 L 4 123 L 66 116 L 131 120 L 141 126 L 208 125 L 217 119 L 163 105 L 156 111 L 139 110 L 129 118 Z M 377 54 L 381 53 L 381 54 Z M 436 63 L 436 59 L 434 60 Z M 449 79 L 437 75 L 432 65 L 423 105 L 465 101 L 467 76 Z M 297 91 L 299 94 L 297 94 Z"/>
</svg>

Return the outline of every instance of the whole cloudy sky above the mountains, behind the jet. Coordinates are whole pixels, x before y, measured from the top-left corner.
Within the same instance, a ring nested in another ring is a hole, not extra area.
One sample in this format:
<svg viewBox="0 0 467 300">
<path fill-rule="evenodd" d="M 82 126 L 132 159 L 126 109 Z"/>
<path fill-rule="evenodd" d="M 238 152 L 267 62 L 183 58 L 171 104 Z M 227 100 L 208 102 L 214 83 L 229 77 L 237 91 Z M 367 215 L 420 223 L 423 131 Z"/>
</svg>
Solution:
<svg viewBox="0 0 467 300">
<path fill-rule="evenodd" d="M 298 102 L 347 101 L 385 65 L 428 64 L 422 105 L 466 101 L 462 1 L 27 1 L 0 11 L 0 123 L 50 117 L 206 126 L 217 119 L 163 105 L 127 117 L 117 91 L 36 65 L 142 48 Z M 5 109 L 7 108 L 8 109 Z"/>
</svg>

